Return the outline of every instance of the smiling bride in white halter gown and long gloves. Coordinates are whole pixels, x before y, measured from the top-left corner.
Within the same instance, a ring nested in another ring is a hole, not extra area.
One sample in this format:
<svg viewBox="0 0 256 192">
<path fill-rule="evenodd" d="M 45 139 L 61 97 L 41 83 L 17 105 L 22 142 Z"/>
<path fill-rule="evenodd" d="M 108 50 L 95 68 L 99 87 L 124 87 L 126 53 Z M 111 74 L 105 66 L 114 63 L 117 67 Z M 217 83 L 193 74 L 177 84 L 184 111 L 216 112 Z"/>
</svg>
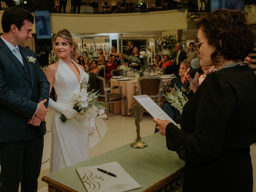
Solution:
<svg viewBox="0 0 256 192">
<path fill-rule="evenodd" d="M 52 118 L 52 148 L 50 172 L 55 172 L 89 158 L 89 135 L 95 130 L 93 118 L 77 115 L 73 109 L 74 90 L 80 89 L 80 83 L 88 74 L 84 67 L 76 64 L 77 44 L 66 29 L 60 30 L 54 41 L 54 51 L 60 58 L 46 70 L 46 77 L 57 95 L 57 102 L 49 101 L 48 107 L 54 110 Z M 61 122 L 60 115 L 68 119 Z"/>
</svg>

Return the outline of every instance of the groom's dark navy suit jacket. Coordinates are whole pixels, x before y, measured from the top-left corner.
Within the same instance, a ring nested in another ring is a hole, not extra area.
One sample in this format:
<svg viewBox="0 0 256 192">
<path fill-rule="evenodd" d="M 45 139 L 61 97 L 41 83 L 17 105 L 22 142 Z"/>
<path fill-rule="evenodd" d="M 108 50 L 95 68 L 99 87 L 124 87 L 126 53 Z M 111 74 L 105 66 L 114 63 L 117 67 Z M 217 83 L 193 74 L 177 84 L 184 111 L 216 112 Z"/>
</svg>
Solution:
<svg viewBox="0 0 256 192">
<path fill-rule="evenodd" d="M 45 122 L 32 126 L 28 119 L 40 101 L 49 99 L 50 83 L 37 60 L 35 64 L 28 62 L 28 56 L 36 58 L 32 50 L 23 46 L 19 49 L 28 72 L 0 38 L 0 142 L 26 140 L 35 128 L 46 132 Z"/>
</svg>

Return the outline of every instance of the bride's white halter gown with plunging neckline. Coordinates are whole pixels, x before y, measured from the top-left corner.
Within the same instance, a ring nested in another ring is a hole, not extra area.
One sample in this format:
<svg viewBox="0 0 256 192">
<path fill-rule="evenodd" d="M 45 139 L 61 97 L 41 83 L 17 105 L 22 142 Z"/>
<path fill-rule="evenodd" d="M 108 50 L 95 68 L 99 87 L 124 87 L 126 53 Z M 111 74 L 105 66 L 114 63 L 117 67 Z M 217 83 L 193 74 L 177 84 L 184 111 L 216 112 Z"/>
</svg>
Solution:
<svg viewBox="0 0 256 192">
<path fill-rule="evenodd" d="M 80 72 L 80 82 L 89 77 L 75 62 Z M 80 89 L 80 82 L 74 72 L 60 59 L 58 70 L 54 76 L 54 90 L 57 103 L 73 107 L 74 90 Z M 50 172 L 55 172 L 67 166 L 89 158 L 89 120 L 85 116 L 76 116 L 66 122 L 61 122 L 60 113 L 54 112 L 52 118 L 52 149 Z"/>
</svg>

